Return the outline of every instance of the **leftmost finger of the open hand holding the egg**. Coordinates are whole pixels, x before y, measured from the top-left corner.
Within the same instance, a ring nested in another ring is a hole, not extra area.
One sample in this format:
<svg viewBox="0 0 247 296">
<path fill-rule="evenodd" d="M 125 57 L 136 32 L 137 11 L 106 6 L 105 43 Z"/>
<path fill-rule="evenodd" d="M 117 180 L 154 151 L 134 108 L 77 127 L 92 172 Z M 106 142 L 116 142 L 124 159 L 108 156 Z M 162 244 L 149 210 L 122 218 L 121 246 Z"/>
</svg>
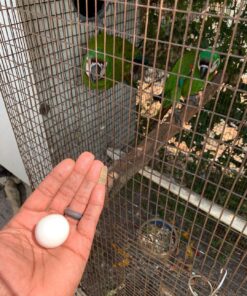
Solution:
<svg viewBox="0 0 247 296">
<path fill-rule="evenodd" d="M 23 208 L 32 211 L 44 211 L 69 177 L 74 166 L 75 162 L 72 159 L 65 159 L 60 162 L 25 201 Z"/>
</svg>

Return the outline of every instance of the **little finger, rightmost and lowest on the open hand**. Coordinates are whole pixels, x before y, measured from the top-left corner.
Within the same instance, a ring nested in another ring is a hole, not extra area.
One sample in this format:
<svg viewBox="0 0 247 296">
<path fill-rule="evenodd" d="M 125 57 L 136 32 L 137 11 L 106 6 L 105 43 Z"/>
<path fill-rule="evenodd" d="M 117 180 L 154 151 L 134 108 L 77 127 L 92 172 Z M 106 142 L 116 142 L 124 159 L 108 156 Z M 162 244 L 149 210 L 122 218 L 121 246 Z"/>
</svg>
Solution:
<svg viewBox="0 0 247 296">
<path fill-rule="evenodd" d="M 84 250 L 90 251 L 99 216 L 102 212 L 105 200 L 105 185 L 97 184 L 91 194 L 88 206 L 78 224 L 78 232 L 81 235 L 81 245 Z"/>
</svg>

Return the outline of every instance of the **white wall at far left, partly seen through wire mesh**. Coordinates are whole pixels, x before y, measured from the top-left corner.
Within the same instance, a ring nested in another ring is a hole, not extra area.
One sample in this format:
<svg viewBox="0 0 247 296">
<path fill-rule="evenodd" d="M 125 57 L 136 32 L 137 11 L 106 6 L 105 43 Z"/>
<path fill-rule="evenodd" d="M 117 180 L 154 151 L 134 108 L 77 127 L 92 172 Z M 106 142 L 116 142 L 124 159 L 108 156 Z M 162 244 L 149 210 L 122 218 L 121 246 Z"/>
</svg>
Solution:
<svg viewBox="0 0 247 296">
<path fill-rule="evenodd" d="M 3 96 L 0 96 L 0 163 L 28 182 L 26 169 L 32 177 L 31 185 L 35 187 L 51 170 L 52 163 L 43 119 L 36 103 L 37 89 L 22 21 L 15 1 L 0 0 L 0 5 L 0 83 Z"/>
</svg>

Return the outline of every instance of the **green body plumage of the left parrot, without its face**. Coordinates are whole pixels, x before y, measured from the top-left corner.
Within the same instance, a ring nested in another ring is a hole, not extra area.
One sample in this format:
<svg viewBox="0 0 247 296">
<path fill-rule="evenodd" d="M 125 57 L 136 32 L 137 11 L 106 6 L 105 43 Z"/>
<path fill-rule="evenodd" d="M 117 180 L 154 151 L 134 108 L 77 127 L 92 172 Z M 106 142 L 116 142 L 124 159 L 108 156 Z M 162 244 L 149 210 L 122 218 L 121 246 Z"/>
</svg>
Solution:
<svg viewBox="0 0 247 296">
<path fill-rule="evenodd" d="M 88 43 L 87 55 L 82 61 L 83 83 L 91 89 L 108 89 L 116 82 L 125 81 L 125 76 L 131 71 L 132 47 L 129 41 L 117 36 L 99 33 L 97 38 L 92 37 Z M 135 56 L 140 54 L 137 48 L 134 52 Z M 105 78 L 98 79 L 97 83 L 92 82 L 86 74 L 88 58 L 107 63 Z"/>
</svg>

